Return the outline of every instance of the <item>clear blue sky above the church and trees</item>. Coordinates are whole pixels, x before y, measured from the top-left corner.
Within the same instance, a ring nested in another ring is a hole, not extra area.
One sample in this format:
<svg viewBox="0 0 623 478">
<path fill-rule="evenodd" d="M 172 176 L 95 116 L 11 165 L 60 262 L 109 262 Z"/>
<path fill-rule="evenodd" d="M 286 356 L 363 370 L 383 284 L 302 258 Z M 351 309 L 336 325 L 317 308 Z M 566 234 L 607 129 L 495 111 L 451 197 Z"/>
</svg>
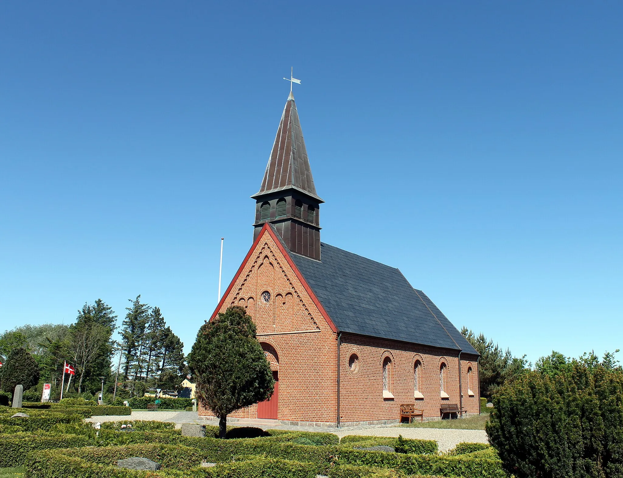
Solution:
<svg viewBox="0 0 623 478">
<path fill-rule="evenodd" d="M 534 361 L 623 345 L 621 2 L 2 2 L 0 329 L 141 294 L 186 344 L 294 66 L 322 239 Z"/>
</svg>

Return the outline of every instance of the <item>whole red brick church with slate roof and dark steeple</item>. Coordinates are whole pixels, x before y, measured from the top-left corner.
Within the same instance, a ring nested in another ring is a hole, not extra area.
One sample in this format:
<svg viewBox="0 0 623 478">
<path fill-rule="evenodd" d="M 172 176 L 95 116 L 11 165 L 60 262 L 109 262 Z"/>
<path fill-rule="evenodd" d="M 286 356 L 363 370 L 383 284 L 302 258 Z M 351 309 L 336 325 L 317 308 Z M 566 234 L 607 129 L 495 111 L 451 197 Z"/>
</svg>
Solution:
<svg viewBox="0 0 623 478">
<path fill-rule="evenodd" d="M 262 186 L 254 242 L 214 311 L 242 305 L 277 383 L 231 415 L 316 426 L 479 411 L 478 353 L 399 269 L 320 241 L 320 204 L 292 93 Z M 204 417 L 211 416 L 199 409 Z"/>
</svg>

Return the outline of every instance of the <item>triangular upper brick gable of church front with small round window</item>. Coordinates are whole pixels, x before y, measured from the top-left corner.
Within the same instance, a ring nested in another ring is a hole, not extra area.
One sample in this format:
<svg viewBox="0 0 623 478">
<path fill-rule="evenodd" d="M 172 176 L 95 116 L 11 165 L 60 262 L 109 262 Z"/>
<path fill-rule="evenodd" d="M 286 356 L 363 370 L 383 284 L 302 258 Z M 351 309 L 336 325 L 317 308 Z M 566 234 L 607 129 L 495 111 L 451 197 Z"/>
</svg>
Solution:
<svg viewBox="0 0 623 478">
<path fill-rule="evenodd" d="M 320 332 L 326 324 L 268 227 L 240 267 L 219 310 L 230 305 L 247 309 L 258 335 Z"/>
</svg>

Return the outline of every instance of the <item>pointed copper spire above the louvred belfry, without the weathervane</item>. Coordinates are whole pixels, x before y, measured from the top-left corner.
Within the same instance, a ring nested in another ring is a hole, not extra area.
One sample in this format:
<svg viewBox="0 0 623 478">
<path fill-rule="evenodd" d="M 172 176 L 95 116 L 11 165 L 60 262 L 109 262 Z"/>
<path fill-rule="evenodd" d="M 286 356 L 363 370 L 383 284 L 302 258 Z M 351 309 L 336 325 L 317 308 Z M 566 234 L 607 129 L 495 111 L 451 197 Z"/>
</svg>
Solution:
<svg viewBox="0 0 623 478">
<path fill-rule="evenodd" d="M 283 108 L 262 186 L 257 194 L 251 197 L 290 188 L 308 194 L 320 203 L 324 202 L 316 194 L 316 187 L 313 184 L 312 170 L 292 92 Z"/>
</svg>

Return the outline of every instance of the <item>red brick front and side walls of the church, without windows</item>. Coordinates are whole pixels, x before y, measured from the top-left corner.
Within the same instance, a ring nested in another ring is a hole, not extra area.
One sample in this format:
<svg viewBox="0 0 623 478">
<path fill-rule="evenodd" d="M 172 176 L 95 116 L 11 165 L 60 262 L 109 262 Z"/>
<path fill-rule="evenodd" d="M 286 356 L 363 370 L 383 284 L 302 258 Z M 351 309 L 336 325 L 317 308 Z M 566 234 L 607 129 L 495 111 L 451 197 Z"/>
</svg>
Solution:
<svg viewBox="0 0 623 478">
<path fill-rule="evenodd" d="M 270 300 L 262 300 L 269 292 Z M 269 231 L 264 231 L 234 284 L 221 311 L 243 305 L 257 325 L 257 334 L 273 371 L 278 371 L 278 419 L 336 423 L 337 335 L 316 307 L 302 281 L 288 264 Z M 396 420 L 402 403 L 416 403 L 427 418 L 439 417 L 441 403 L 459 404 L 457 351 L 343 334 L 340 347 L 340 416 L 342 423 Z M 349 366 L 355 353 L 358 361 Z M 383 360 L 389 357 L 389 391 L 383 399 Z M 414 398 L 414 363 L 421 366 Z M 439 367 L 445 363 L 440 398 Z M 478 413 L 476 357 L 462 357 L 463 406 Z M 471 369 L 471 372 L 468 370 Z M 468 374 L 474 396 L 468 396 Z M 212 414 L 199 406 L 200 416 Z M 232 413 L 233 418 L 257 418 L 257 405 Z"/>
</svg>

